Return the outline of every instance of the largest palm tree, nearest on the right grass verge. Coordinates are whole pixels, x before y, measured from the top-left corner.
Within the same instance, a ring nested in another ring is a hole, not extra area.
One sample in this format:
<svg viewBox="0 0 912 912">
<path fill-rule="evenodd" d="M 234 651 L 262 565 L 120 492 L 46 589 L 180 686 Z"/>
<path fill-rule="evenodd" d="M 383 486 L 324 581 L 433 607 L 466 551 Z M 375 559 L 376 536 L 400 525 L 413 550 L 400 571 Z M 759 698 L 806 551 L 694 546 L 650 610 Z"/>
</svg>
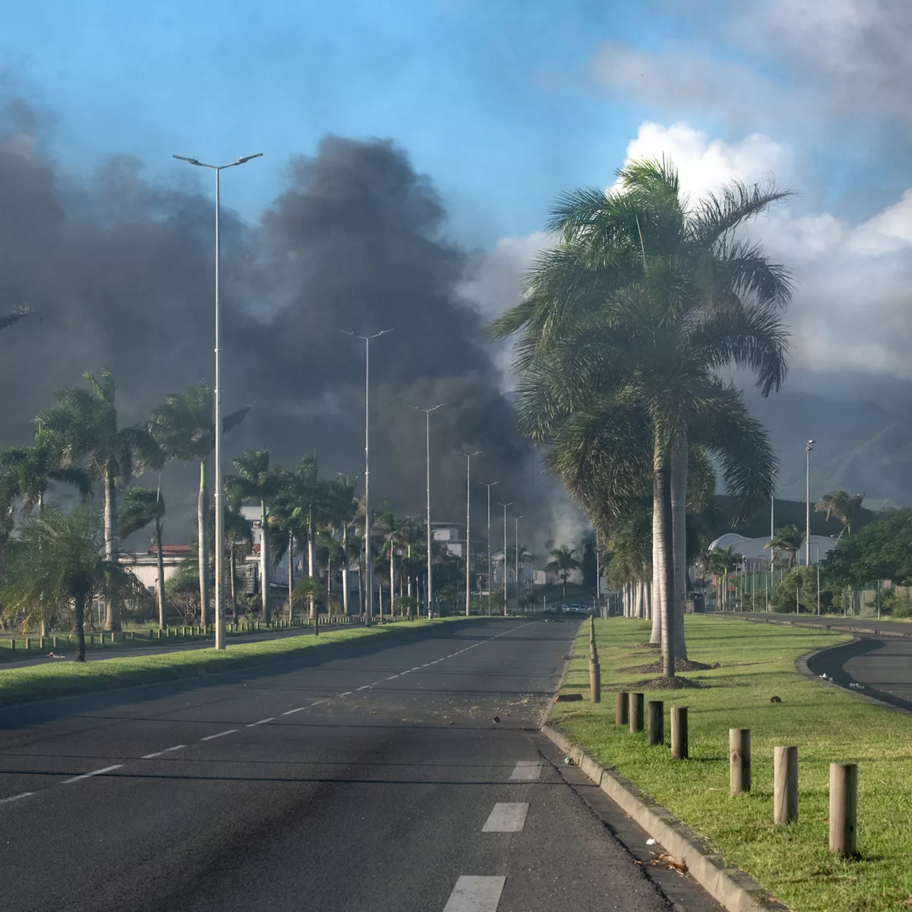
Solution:
<svg viewBox="0 0 912 912">
<path fill-rule="evenodd" d="M 619 177 L 618 192 L 572 192 L 558 203 L 549 229 L 560 244 L 540 257 L 523 302 L 492 331 L 523 331 L 518 404 L 534 440 L 554 444 L 573 421 L 577 439 L 611 424 L 645 426 L 663 671 L 672 677 L 670 634 L 686 595 L 689 434 L 711 420 L 720 440 L 726 409 L 744 411 L 720 370 L 753 370 L 764 395 L 786 373 L 788 275 L 741 229 L 787 194 L 732 184 L 690 206 L 667 162 L 631 162 Z M 744 430 L 765 442 L 756 422 Z M 768 445 L 762 456 L 752 459 L 752 477 L 743 466 L 733 472 L 745 509 L 772 491 Z"/>
</svg>

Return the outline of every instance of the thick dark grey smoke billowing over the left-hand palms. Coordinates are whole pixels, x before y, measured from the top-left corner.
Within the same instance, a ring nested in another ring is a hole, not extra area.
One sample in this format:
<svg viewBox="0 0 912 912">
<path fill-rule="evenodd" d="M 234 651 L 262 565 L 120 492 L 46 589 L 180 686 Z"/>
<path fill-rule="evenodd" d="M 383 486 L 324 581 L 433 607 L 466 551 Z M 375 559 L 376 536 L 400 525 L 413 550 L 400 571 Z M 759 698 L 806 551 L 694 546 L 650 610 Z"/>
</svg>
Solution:
<svg viewBox="0 0 912 912">
<path fill-rule="evenodd" d="M 21 103 L 0 116 L 3 309 L 27 302 L 40 315 L 0 337 L 0 445 L 26 442 L 36 412 L 85 369 L 114 372 L 125 422 L 212 377 L 209 182 L 181 173 L 157 185 L 126 158 L 78 181 L 43 148 L 46 129 Z M 254 407 L 226 438 L 228 456 L 268 444 L 282 464 L 316 451 L 327 476 L 361 472 L 364 346 L 340 330 L 391 328 L 371 347 L 376 503 L 422 512 L 424 416 L 408 407 L 445 402 L 431 416 L 435 517 L 464 516 L 461 447 L 483 450 L 475 477 L 500 481 L 498 499 L 532 515 L 528 452 L 484 320 L 460 290 L 474 260 L 402 150 L 327 137 L 291 161 L 258 225 L 222 214 L 223 402 Z M 192 470 L 163 476 L 171 539 L 189 534 L 192 483 Z"/>
</svg>

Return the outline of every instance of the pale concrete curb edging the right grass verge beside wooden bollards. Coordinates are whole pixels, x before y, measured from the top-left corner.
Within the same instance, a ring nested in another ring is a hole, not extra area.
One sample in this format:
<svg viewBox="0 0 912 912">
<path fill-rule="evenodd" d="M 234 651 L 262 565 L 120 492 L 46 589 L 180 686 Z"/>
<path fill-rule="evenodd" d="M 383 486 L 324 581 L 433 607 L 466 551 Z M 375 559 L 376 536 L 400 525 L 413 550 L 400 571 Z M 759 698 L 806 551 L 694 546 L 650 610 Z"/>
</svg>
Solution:
<svg viewBox="0 0 912 912">
<path fill-rule="evenodd" d="M 629 779 L 609 770 L 553 725 L 544 725 L 542 733 L 669 855 L 687 865 L 694 880 L 730 912 L 788 912 L 787 906 L 740 868 L 726 864 L 687 824 L 641 792 Z"/>
</svg>

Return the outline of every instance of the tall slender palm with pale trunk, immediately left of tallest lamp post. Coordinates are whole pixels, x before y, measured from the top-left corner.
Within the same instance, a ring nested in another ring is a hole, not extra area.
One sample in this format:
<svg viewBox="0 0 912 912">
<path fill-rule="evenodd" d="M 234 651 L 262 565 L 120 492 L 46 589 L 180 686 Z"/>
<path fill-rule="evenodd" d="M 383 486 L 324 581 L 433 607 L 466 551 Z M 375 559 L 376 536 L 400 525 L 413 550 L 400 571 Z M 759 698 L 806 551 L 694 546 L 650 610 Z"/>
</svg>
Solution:
<svg viewBox="0 0 912 912">
<path fill-rule="evenodd" d="M 249 411 L 238 409 L 222 419 L 222 432 L 237 427 Z M 215 449 L 215 418 L 212 387 L 202 382 L 185 393 L 171 394 L 152 412 L 149 430 L 170 460 L 200 463 L 200 493 L 196 504 L 196 535 L 199 543 L 200 623 L 209 613 L 209 489 L 206 463 Z"/>
</svg>

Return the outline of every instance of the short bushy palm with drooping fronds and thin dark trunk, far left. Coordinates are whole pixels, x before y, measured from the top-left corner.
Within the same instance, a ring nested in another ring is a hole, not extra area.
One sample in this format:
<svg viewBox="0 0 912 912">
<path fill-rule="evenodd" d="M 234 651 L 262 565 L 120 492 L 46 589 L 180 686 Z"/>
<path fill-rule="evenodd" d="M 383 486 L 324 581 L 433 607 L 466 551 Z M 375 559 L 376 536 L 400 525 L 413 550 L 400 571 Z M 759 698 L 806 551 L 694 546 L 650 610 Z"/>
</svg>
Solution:
<svg viewBox="0 0 912 912">
<path fill-rule="evenodd" d="M 86 660 L 85 612 L 93 596 L 103 593 L 114 604 L 124 596 L 148 595 L 116 555 L 109 559 L 109 539 L 101 529 L 98 514 L 87 506 L 69 513 L 46 506 L 19 525 L 5 569 L 7 617 L 28 617 L 42 603 L 72 604 L 78 662 Z"/>
</svg>

